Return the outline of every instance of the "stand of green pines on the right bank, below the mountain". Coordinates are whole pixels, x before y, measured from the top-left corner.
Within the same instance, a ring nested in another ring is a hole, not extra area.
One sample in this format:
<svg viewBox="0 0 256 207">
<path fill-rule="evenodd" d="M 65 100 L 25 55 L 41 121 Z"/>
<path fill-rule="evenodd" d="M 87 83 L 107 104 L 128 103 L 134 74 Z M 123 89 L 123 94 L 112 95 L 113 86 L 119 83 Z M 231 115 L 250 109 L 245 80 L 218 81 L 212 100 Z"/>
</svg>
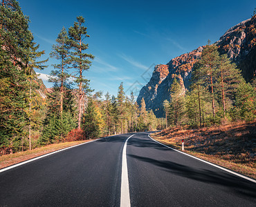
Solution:
<svg viewBox="0 0 256 207">
<path fill-rule="evenodd" d="M 256 15 L 253 16 L 256 18 Z M 218 47 L 203 49 L 192 71 L 190 91 L 174 79 L 170 99 L 163 102 L 165 126 L 203 127 L 256 118 L 256 79 L 246 83 L 235 63 Z"/>
</svg>

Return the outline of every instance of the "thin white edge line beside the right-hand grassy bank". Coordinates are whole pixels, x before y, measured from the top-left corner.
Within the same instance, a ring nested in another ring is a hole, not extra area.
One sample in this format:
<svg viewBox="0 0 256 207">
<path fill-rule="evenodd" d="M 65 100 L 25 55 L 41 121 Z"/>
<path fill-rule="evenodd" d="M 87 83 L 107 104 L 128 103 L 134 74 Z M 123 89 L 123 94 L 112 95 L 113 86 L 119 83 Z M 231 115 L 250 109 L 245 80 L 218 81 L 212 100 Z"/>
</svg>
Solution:
<svg viewBox="0 0 256 207">
<path fill-rule="evenodd" d="M 150 137 L 150 135 L 148 135 L 148 136 L 149 136 L 149 138 L 152 139 L 153 141 L 156 141 L 155 139 L 153 139 L 152 137 Z M 238 177 L 247 179 L 248 181 L 252 181 L 253 183 L 256 184 L 256 180 L 255 180 L 255 179 L 252 179 L 252 178 L 250 178 L 250 177 L 246 177 L 246 176 L 244 176 L 244 175 L 241 175 L 241 174 L 239 174 L 239 173 L 237 173 L 237 172 L 233 172 L 232 170 L 228 170 L 228 169 L 223 168 L 223 167 L 221 167 L 221 166 L 217 166 L 216 164 L 212 164 L 212 163 L 210 163 L 209 161 L 205 161 L 205 160 L 200 159 L 200 158 L 198 158 L 198 157 L 194 157 L 193 155 L 189 155 L 189 154 L 187 154 L 187 153 L 185 153 L 185 152 L 181 152 L 181 151 L 179 151 L 179 150 L 176 150 L 176 149 L 174 149 L 174 148 L 171 148 L 170 146 L 166 146 L 165 144 L 163 144 L 163 143 L 161 143 L 161 142 L 159 142 L 159 141 L 156 141 L 156 142 L 157 142 L 158 144 L 161 144 L 161 145 L 167 147 L 167 148 L 170 148 L 170 149 L 172 149 L 172 150 L 175 150 L 176 152 L 180 152 L 180 153 L 183 154 L 183 155 L 187 155 L 188 157 L 192 157 L 192 158 L 197 159 L 197 160 L 199 160 L 199 161 L 203 161 L 204 163 L 209 164 L 209 165 L 211 165 L 211 166 L 214 166 L 215 168 L 219 168 L 219 169 L 224 170 L 224 171 L 226 171 L 226 172 L 230 172 L 230 173 L 233 174 L 233 175 L 237 175 Z"/>
</svg>

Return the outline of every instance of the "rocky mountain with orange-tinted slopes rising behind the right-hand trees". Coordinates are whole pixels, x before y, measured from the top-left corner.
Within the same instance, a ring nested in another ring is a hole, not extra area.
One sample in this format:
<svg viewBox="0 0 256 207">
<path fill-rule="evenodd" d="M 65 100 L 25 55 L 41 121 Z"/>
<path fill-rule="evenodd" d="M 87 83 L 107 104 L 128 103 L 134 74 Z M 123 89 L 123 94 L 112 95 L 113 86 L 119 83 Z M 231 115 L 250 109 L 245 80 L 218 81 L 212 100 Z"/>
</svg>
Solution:
<svg viewBox="0 0 256 207">
<path fill-rule="evenodd" d="M 227 30 L 215 44 L 221 54 L 228 54 L 237 63 L 246 81 L 253 78 L 256 72 L 256 15 Z M 176 77 L 183 91 L 188 90 L 194 63 L 201 57 L 203 47 L 175 57 L 166 65 L 156 65 L 152 78 L 140 90 L 137 103 L 144 98 L 147 110 L 152 109 L 157 117 L 162 117 L 163 101 L 170 100 L 172 81 Z"/>
</svg>

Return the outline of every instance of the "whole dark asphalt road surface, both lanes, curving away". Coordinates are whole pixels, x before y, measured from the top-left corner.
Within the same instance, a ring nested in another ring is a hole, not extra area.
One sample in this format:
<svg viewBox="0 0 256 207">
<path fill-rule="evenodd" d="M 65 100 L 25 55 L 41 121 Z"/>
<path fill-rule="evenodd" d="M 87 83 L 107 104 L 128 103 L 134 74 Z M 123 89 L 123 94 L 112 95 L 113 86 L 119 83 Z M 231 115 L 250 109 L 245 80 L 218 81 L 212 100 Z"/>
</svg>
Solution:
<svg viewBox="0 0 256 207">
<path fill-rule="evenodd" d="M 0 206 L 120 206 L 122 150 L 100 139 L 0 173 Z M 136 133 L 127 141 L 131 206 L 256 206 L 256 184 Z M 127 204 L 129 206 L 129 204 Z"/>
</svg>

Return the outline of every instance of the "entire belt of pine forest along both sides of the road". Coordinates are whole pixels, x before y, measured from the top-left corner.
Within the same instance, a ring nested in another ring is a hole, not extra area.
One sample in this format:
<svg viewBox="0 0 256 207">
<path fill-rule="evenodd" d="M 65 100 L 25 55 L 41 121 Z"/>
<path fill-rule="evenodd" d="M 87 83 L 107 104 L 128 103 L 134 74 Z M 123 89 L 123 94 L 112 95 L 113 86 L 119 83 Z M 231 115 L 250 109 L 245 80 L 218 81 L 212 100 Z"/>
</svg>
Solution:
<svg viewBox="0 0 256 207">
<path fill-rule="evenodd" d="M 41 58 L 44 51 L 29 30 L 30 20 L 15 0 L 2 1 L 0 10 L 1 155 L 62 141 L 256 117 L 255 79 L 246 83 L 237 66 L 210 43 L 194 66 L 190 91 L 174 79 L 163 118 L 147 110 L 144 99 L 136 103 L 132 92 L 126 95 L 123 83 L 116 97 L 95 92 L 84 77 L 94 56 L 86 53 L 90 36 L 82 16 L 57 36 L 49 57 L 58 61 L 49 79 L 53 88 L 43 99 L 34 69 L 46 68 L 48 59 Z"/>
</svg>

